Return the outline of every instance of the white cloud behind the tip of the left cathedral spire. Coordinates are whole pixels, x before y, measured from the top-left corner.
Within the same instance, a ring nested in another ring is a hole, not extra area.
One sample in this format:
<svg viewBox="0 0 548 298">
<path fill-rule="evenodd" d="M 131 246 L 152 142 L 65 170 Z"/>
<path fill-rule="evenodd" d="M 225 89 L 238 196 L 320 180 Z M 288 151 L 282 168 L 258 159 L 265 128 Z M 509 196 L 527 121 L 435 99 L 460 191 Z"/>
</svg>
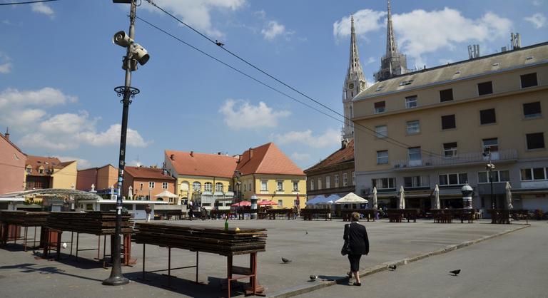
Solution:
<svg viewBox="0 0 548 298">
<path fill-rule="evenodd" d="M 382 17 L 386 15 L 385 11 L 372 11 L 371 9 L 362 9 L 354 14 L 354 28 L 357 35 L 365 35 L 370 31 L 377 31 L 385 26 Z M 333 23 L 333 36 L 337 40 L 350 36 L 350 16 L 343 16 L 339 21 Z"/>
</svg>

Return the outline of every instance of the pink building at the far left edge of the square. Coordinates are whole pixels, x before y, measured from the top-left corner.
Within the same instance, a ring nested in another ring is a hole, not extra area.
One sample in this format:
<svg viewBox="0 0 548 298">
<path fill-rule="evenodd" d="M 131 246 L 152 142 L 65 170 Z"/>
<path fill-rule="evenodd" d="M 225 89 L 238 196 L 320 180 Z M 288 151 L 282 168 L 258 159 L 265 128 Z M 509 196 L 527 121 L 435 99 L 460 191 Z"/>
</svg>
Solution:
<svg viewBox="0 0 548 298">
<path fill-rule="evenodd" d="M 26 155 L 0 133 L 0 195 L 24 190 Z"/>
</svg>

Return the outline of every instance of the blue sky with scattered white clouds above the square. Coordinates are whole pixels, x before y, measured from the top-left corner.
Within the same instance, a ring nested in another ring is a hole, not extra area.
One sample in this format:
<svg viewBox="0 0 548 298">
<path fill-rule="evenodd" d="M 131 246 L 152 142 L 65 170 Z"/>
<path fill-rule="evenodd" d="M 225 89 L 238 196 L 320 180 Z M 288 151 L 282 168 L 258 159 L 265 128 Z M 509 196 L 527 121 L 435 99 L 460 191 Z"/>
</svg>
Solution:
<svg viewBox="0 0 548 298">
<path fill-rule="evenodd" d="M 22 0 L 0 0 L 0 4 Z M 342 86 L 355 18 L 367 81 L 386 48 L 386 1 L 156 0 L 212 40 L 310 98 L 342 113 Z M 0 131 L 29 155 L 78 160 L 78 168 L 118 165 L 129 5 L 60 0 L 0 6 Z M 146 0 L 137 15 L 239 71 L 320 108 L 230 56 Z M 439 66 L 509 46 L 548 41 L 548 0 L 392 0 L 397 46 L 408 68 Z M 294 101 L 136 21 L 151 55 L 133 72 L 128 165 L 163 163 L 163 151 L 236 155 L 274 142 L 300 168 L 340 148 L 342 123 Z M 325 110 L 323 110 L 325 111 Z M 329 111 L 335 118 L 342 117 Z"/>
</svg>

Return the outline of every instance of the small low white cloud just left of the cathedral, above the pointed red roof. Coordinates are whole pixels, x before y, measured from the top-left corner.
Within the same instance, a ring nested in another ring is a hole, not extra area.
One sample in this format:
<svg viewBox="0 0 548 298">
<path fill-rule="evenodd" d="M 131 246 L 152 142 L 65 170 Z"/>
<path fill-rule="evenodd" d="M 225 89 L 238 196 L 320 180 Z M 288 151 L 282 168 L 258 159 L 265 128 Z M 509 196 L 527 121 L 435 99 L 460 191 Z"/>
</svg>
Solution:
<svg viewBox="0 0 548 298">
<path fill-rule="evenodd" d="M 276 143 L 280 144 L 303 143 L 313 148 L 322 148 L 339 143 L 340 132 L 330 128 L 325 130 L 323 135 L 313 135 L 312 130 L 309 129 L 274 135 L 274 138 Z"/>
</svg>

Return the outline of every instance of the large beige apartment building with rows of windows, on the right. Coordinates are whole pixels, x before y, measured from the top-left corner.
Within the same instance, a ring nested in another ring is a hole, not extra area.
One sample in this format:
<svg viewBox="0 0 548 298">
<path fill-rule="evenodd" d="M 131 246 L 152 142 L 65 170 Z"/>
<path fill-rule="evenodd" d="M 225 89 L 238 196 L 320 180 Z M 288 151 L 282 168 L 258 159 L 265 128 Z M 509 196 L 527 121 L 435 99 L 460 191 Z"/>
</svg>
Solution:
<svg viewBox="0 0 548 298">
<path fill-rule="evenodd" d="M 514 208 L 548 211 L 548 43 L 379 81 L 353 106 L 358 195 L 377 187 L 395 207 L 402 185 L 428 210 L 439 185 L 442 207 L 461 207 L 469 183 L 473 206 L 491 209 L 489 148 L 497 207 L 509 182 Z"/>
</svg>

